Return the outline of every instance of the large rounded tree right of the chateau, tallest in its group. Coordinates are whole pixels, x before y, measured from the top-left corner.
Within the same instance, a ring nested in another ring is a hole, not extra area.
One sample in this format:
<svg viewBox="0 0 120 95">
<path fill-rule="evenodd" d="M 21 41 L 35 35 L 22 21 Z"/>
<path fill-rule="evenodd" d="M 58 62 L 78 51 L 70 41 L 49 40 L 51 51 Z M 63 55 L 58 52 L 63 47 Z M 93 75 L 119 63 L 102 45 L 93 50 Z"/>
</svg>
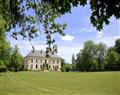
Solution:
<svg viewBox="0 0 120 95">
<path fill-rule="evenodd" d="M 107 47 L 105 44 L 86 41 L 83 49 L 77 54 L 76 68 L 80 71 L 104 70 L 106 55 Z"/>
</svg>

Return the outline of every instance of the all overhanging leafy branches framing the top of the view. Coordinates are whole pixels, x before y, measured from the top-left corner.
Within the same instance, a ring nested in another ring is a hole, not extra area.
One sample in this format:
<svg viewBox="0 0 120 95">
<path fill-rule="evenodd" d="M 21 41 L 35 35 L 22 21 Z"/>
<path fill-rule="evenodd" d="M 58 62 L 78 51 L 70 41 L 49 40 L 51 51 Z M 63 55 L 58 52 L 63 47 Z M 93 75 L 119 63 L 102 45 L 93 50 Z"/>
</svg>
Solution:
<svg viewBox="0 0 120 95">
<path fill-rule="evenodd" d="M 91 8 L 91 23 L 97 30 L 101 30 L 104 24 L 108 25 L 110 17 L 120 18 L 120 0 L 0 0 L 0 15 L 6 23 L 7 30 L 19 27 L 16 30 L 20 31 L 11 31 L 16 39 L 19 37 L 17 35 L 21 35 L 31 40 L 38 36 L 38 31 L 44 30 L 48 54 L 57 52 L 52 35 L 64 35 L 63 30 L 66 26 L 55 23 L 55 19 L 71 12 L 72 7 L 85 6 L 87 1 Z M 33 14 L 27 13 L 30 11 Z"/>
</svg>

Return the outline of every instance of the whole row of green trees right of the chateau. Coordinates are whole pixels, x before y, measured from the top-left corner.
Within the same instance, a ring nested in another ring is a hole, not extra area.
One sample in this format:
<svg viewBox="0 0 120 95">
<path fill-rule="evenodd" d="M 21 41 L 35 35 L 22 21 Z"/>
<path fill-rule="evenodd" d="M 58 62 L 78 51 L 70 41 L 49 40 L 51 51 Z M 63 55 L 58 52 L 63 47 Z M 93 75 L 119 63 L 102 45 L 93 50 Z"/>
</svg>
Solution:
<svg viewBox="0 0 120 95">
<path fill-rule="evenodd" d="M 76 71 L 118 71 L 120 70 L 120 39 L 115 46 L 108 48 L 105 44 L 86 41 L 83 49 L 72 57 Z M 75 61 L 74 61 L 75 60 Z"/>
</svg>

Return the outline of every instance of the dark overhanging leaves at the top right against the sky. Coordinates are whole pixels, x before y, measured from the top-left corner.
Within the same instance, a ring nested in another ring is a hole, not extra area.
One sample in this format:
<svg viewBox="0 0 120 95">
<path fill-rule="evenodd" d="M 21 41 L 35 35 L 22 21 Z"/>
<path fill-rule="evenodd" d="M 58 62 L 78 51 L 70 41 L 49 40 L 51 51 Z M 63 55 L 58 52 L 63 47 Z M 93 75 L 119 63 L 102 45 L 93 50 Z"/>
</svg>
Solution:
<svg viewBox="0 0 120 95">
<path fill-rule="evenodd" d="M 91 23 L 98 30 L 103 29 L 103 25 L 110 23 L 110 17 L 120 18 L 120 0 L 43 0 L 52 5 L 52 7 L 61 14 L 71 12 L 73 7 L 85 6 L 90 4 Z"/>
</svg>

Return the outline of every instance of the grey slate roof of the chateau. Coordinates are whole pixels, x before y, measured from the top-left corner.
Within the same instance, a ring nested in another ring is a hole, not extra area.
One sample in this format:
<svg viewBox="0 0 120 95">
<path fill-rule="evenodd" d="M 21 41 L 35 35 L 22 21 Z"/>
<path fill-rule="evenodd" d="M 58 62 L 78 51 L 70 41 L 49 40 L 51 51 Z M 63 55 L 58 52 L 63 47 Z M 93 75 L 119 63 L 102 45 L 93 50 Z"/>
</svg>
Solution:
<svg viewBox="0 0 120 95">
<path fill-rule="evenodd" d="M 49 54 L 50 58 L 61 58 L 56 54 Z M 41 51 L 41 50 L 34 50 L 31 51 L 26 57 L 42 57 L 42 58 L 46 58 L 46 54 L 45 51 Z"/>
</svg>

